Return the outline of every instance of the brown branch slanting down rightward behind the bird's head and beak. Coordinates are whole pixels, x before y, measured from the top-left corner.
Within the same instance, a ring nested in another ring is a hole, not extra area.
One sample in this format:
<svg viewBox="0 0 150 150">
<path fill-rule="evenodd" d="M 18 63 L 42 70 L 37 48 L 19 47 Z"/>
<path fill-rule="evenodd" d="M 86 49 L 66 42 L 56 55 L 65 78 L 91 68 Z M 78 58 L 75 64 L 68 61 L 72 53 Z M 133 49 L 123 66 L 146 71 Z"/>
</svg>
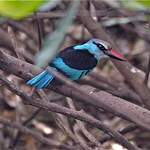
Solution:
<svg viewBox="0 0 150 150">
<path fill-rule="evenodd" d="M 80 15 L 78 16 L 81 23 L 88 29 L 88 31 L 96 38 L 108 41 L 111 43 L 113 49 L 119 50 L 118 46 L 113 42 L 102 26 L 92 19 L 89 12 L 84 7 L 84 2 L 81 4 L 79 9 Z M 128 84 L 135 90 L 140 96 L 143 103 L 150 108 L 150 90 L 143 84 L 142 79 L 139 77 L 138 72 L 132 72 L 133 66 L 128 62 L 118 62 L 112 60 L 121 74 L 125 77 Z"/>
</svg>

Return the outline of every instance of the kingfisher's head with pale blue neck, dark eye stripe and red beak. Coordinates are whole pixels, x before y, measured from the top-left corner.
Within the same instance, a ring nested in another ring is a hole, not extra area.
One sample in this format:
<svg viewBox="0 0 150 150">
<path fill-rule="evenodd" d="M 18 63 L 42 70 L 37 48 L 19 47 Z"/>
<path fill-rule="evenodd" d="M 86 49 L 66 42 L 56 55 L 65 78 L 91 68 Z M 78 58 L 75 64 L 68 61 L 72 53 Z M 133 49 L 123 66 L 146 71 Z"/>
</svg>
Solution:
<svg viewBox="0 0 150 150">
<path fill-rule="evenodd" d="M 126 60 L 122 54 L 113 50 L 109 43 L 99 39 L 91 39 L 81 45 L 81 47 L 87 49 L 98 60 L 105 57 L 114 58 L 120 61 Z"/>
</svg>

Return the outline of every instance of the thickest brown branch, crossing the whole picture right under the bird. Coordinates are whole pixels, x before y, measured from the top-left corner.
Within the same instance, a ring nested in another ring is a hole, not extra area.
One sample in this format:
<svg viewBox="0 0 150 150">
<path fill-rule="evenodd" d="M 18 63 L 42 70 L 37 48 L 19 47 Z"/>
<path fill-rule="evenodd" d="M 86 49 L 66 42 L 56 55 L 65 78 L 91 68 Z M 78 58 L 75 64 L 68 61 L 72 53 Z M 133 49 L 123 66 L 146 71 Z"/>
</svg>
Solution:
<svg viewBox="0 0 150 150">
<path fill-rule="evenodd" d="M 18 64 L 20 67 L 18 67 Z M 0 51 L 0 69 L 7 73 L 17 75 L 25 80 L 30 79 L 32 74 L 35 75 L 42 71 L 35 68 L 32 64 L 14 58 L 2 51 Z M 93 93 L 92 97 L 86 94 L 86 97 L 84 97 L 83 94 L 79 94 L 65 85 L 55 86 L 53 87 L 53 90 L 62 95 L 80 100 L 81 102 L 86 102 L 98 108 L 105 109 L 108 112 L 135 122 L 137 125 L 150 130 L 150 112 L 140 106 L 126 102 L 121 98 L 105 92 Z"/>
</svg>

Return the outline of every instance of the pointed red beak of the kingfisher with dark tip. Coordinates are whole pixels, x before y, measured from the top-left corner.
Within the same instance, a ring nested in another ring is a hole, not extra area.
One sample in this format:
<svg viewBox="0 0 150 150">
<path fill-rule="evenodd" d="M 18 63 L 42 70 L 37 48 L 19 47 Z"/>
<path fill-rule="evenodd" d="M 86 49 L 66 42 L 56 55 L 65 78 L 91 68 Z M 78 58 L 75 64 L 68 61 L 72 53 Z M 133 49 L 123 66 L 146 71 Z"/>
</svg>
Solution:
<svg viewBox="0 0 150 150">
<path fill-rule="evenodd" d="M 118 59 L 120 61 L 126 61 L 127 60 L 122 54 L 120 54 L 117 51 L 112 50 L 112 49 L 110 49 L 108 51 L 108 56 L 111 58 L 114 58 L 114 59 Z"/>
</svg>

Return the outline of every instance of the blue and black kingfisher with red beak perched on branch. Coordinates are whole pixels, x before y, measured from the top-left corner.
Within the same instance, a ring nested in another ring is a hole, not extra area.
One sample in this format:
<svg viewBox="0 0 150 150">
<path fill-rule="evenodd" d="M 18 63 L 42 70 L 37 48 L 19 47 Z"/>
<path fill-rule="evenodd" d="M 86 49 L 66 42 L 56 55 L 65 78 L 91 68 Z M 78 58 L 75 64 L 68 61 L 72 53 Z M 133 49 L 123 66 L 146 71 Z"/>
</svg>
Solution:
<svg viewBox="0 0 150 150">
<path fill-rule="evenodd" d="M 94 38 L 65 48 L 48 65 L 70 80 L 77 81 L 91 72 L 102 58 L 126 60 L 122 54 L 113 50 L 108 42 Z M 44 70 L 28 80 L 26 84 L 37 89 L 44 89 L 48 88 L 54 80 L 56 80 L 55 77 Z"/>
</svg>

